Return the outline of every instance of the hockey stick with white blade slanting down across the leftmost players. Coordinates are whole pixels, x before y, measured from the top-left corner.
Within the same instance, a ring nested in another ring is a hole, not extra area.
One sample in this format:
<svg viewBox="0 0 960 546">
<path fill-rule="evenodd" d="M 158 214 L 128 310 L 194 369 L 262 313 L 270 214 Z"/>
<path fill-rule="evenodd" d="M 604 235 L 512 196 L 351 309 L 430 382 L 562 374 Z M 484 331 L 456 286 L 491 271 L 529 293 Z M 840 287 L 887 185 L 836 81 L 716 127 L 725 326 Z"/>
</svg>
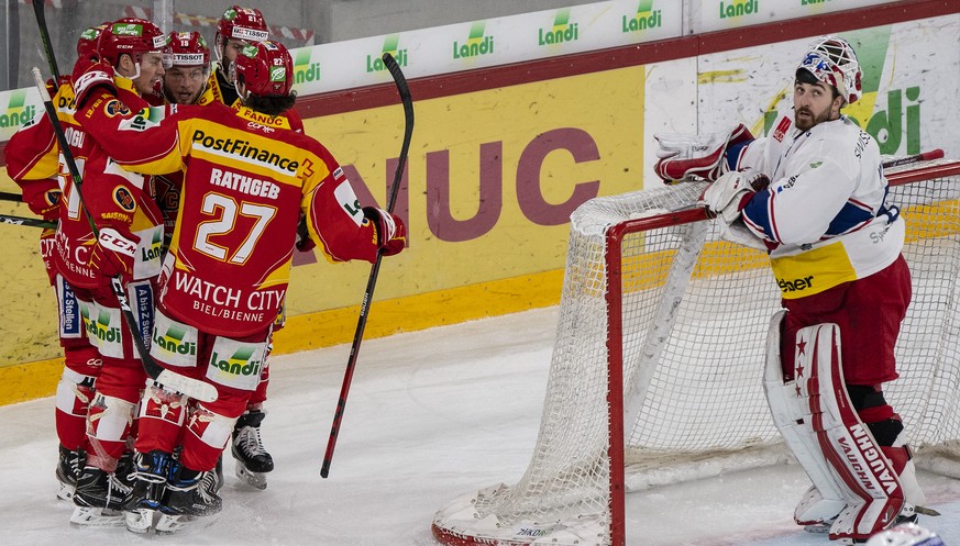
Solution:
<svg viewBox="0 0 960 546">
<path fill-rule="evenodd" d="M 90 222 L 90 229 L 93 231 L 93 234 L 99 236 L 100 231 L 97 229 L 97 224 L 93 222 L 93 216 L 90 215 L 90 211 L 87 210 L 87 204 L 84 201 L 84 196 L 80 191 L 82 179 L 79 169 L 77 168 L 77 161 L 74 159 L 74 154 L 67 143 L 64 127 L 60 125 L 60 121 L 57 118 L 56 110 L 53 105 L 53 99 L 51 99 L 46 85 L 43 82 L 43 76 L 40 74 L 40 68 L 33 68 L 33 79 L 36 83 L 36 90 L 40 91 L 40 97 L 43 99 L 43 105 L 46 109 L 46 116 L 53 125 L 54 134 L 60 146 L 60 154 L 64 156 L 64 163 L 67 164 L 70 177 L 74 180 L 74 189 L 77 192 L 80 207 L 87 215 L 87 220 Z M 212 385 L 170 371 L 158 365 L 156 360 L 150 356 L 146 344 L 143 342 L 143 336 L 137 332 L 139 323 L 136 322 L 136 317 L 133 316 L 133 309 L 130 307 L 130 300 L 126 297 L 126 290 L 124 289 L 120 277 L 113 277 L 110 281 L 110 286 L 113 288 L 113 294 L 120 303 L 120 312 L 123 315 L 123 322 L 126 323 L 126 327 L 132 334 L 131 337 L 133 337 L 133 345 L 140 354 L 140 361 L 143 364 L 143 369 L 146 371 L 146 375 L 164 387 L 181 392 L 190 398 L 203 402 L 212 402 L 217 400 L 217 388 Z"/>
</svg>

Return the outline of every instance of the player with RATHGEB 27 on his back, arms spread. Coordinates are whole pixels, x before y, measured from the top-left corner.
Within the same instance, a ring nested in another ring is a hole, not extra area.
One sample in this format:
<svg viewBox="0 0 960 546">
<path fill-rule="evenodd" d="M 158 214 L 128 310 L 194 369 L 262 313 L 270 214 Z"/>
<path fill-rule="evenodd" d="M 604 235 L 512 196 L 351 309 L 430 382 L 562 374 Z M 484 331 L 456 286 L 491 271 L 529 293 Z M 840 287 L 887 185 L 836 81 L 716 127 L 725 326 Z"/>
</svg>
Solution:
<svg viewBox="0 0 960 546">
<path fill-rule="evenodd" d="M 148 386 L 141 409 L 133 498 L 141 530 L 161 511 L 159 531 L 217 513 L 201 487 L 230 441 L 260 380 L 274 319 L 287 290 L 297 221 L 334 261 L 399 253 L 404 224 L 361 207 L 330 152 L 277 118 L 296 96 L 293 60 L 282 44 L 247 46 L 236 59 L 241 103 L 178 108 L 154 122 L 111 115 L 112 90 L 78 98 L 84 127 L 113 135 L 111 157 L 126 169 L 185 167 L 178 224 L 164 260 L 151 354 L 170 369 L 218 389 L 187 416 L 186 397 Z M 102 81 L 109 87 L 110 79 Z M 180 449 L 179 457 L 172 454 Z M 188 517 L 184 517 L 188 516 Z M 128 519 L 130 528 L 131 519 Z"/>
</svg>

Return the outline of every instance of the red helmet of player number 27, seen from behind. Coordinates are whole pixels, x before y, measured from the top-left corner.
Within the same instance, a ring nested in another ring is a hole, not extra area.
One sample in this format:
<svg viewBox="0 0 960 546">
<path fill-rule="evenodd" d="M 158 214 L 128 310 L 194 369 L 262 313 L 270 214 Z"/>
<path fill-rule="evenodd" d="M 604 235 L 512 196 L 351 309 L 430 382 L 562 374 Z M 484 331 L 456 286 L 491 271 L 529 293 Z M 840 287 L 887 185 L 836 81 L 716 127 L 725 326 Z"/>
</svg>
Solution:
<svg viewBox="0 0 960 546">
<path fill-rule="evenodd" d="M 279 42 L 257 42 L 241 49 L 236 82 L 257 97 L 286 97 L 294 87 L 294 59 Z"/>
</svg>

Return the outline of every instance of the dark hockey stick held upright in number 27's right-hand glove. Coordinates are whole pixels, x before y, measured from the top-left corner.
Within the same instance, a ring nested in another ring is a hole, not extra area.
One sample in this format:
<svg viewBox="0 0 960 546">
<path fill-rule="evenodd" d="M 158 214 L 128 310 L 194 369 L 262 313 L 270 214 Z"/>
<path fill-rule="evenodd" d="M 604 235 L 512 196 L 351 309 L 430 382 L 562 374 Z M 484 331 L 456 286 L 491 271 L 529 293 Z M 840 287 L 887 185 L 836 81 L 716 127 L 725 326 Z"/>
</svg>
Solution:
<svg viewBox="0 0 960 546">
<path fill-rule="evenodd" d="M 407 78 L 397 65 L 396 59 L 389 54 L 383 55 L 384 65 L 394 77 L 400 101 L 404 103 L 404 143 L 400 146 L 400 157 L 397 159 L 397 172 L 394 175 L 394 185 L 390 187 L 390 196 L 387 201 L 387 212 L 394 212 L 394 203 L 400 191 L 400 179 L 404 176 L 404 167 L 407 164 L 407 153 L 410 149 L 410 138 L 413 136 L 413 100 L 410 98 L 410 88 Z M 336 446 L 336 435 L 340 433 L 340 424 L 343 420 L 343 410 L 346 408 L 346 395 L 350 393 L 350 383 L 353 380 L 353 370 L 356 368 L 356 356 L 360 353 L 360 343 L 363 341 L 363 331 L 366 327 L 366 317 L 369 313 L 369 304 L 373 300 L 374 287 L 380 270 L 383 250 L 377 250 L 377 258 L 369 270 L 369 279 L 366 282 L 366 291 L 363 302 L 360 304 L 360 319 L 356 322 L 356 332 L 353 335 L 353 345 L 350 347 L 350 358 L 346 360 L 346 371 L 343 374 L 343 385 L 340 388 L 340 399 L 336 401 L 336 412 L 333 414 L 333 426 L 330 427 L 330 439 L 327 441 L 327 453 L 323 455 L 323 466 L 320 476 L 327 478 L 330 475 L 330 463 L 333 460 L 333 448 Z"/>
</svg>

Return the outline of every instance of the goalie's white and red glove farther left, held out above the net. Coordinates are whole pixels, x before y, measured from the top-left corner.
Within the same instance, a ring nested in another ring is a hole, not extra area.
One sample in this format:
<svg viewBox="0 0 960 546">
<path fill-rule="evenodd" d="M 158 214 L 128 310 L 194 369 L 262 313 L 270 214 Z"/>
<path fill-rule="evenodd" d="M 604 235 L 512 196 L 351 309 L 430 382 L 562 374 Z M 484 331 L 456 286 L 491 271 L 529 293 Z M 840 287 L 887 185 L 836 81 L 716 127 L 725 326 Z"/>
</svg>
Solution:
<svg viewBox="0 0 960 546">
<path fill-rule="evenodd" d="M 729 170 L 727 153 L 739 151 L 753 140 L 742 123 L 732 131 L 707 135 L 655 134 L 660 145 L 653 170 L 664 183 L 703 178 L 714 181 Z"/>
</svg>

